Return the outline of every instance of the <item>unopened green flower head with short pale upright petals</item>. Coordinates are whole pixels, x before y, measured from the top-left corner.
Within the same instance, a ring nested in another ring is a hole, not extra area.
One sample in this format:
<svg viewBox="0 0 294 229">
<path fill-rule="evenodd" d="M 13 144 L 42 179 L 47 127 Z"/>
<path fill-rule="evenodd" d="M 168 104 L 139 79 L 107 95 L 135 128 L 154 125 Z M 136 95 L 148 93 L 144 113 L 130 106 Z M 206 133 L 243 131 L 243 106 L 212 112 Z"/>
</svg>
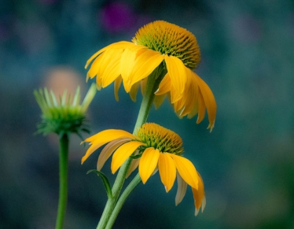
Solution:
<svg viewBox="0 0 294 229">
<path fill-rule="evenodd" d="M 80 135 L 80 132 L 89 132 L 84 124 L 85 112 L 90 102 L 92 102 L 96 91 L 95 85 L 92 84 L 85 99 L 80 104 L 79 87 L 76 89 L 72 103 L 71 96 L 67 97 L 66 91 L 64 91 L 62 97 L 59 98 L 59 102 L 57 102 L 52 90 L 50 92 L 48 92 L 47 88 L 35 90 L 34 95 L 42 111 L 42 120 L 38 124 L 37 133 L 48 134 L 54 132 L 61 135 L 76 133 Z"/>
</svg>

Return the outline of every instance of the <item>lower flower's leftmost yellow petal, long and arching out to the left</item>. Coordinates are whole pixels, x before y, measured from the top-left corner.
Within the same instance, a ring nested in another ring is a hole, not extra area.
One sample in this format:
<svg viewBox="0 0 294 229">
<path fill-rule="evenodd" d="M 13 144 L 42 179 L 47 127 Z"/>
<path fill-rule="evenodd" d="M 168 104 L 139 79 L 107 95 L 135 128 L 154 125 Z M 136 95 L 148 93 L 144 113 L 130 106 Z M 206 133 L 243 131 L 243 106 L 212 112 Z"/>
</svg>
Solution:
<svg viewBox="0 0 294 229">
<path fill-rule="evenodd" d="M 99 132 L 98 134 L 94 134 L 92 137 L 88 137 L 83 142 L 90 141 L 90 148 L 87 149 L 87 152 L 82 158 L 82 164 L 87 160 L 87 158 L 97 150 L 97 148 L 103 146 L 109 141 L 113 141 L 115 139 L 134 139 L 134 135 L 126 132 L 124 130 L 104 130 Z"/>
</svg>

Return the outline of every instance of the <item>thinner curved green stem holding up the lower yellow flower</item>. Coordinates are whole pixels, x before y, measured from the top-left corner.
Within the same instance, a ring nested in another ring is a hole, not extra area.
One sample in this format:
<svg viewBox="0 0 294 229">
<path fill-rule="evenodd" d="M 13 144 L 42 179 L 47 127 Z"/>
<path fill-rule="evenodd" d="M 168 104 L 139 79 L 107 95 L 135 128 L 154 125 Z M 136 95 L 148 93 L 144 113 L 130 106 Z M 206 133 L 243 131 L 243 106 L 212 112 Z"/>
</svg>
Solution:
<svg viewBox="0 0 294 229">
<path fill-rule="evenodd" d="M 136 188 L 140 182 L 141 182 L 141 176 L 138 173 L 134 177 L 134 179 L 132 179 L 132 181 L 129 183 L 127 188 L 125 188 L 122 195 L 120 195 L 120 198 L 118 199 L 118 202 L 116 203 L 116 207 L 113 209 L 111 217 L 109 218 L 109 223 L 107 223 L 106 225 L 106 229 L 112 228 L 114 221 L 116 221 L 116 217 L 118 216 L 118 213 L 120 213 L 120 209 L 123 207 L 123 204 L 125 203 L 125 200 L 127 200 L 127 197 L 130 195 L 132 190 L 134 190 L 134 188 Z"/>
</svg>

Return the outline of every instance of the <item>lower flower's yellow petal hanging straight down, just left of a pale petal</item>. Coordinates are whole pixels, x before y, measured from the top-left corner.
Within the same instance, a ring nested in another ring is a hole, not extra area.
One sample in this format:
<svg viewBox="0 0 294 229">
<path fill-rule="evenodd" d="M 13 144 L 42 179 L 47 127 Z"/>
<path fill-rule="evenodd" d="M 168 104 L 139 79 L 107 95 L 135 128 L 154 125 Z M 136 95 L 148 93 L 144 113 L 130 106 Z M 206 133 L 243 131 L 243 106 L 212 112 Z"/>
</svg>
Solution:
<svg viewBox="0 0 294 229">
<path fill-rule="evenodd" d="M 158 169 L 161 182 L 168 193 L 172 186 L 174 186 L 174 180 L 176 179 L 176 165 L 170 153 L 160 153 Z"/>
</svg>

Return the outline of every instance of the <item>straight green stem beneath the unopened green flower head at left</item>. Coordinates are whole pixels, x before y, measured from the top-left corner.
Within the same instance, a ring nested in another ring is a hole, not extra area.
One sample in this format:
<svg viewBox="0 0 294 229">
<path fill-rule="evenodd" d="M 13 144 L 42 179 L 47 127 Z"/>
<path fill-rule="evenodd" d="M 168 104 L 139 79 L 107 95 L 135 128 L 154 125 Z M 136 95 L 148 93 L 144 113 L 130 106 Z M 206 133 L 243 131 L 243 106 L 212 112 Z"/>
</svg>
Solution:
<svg viewBox="0 0 294 229">
<path fill-rule="evenodd" d="M 67 165 L 69 158 L 69 137 L 59 137 L 59 201 L 55 229 L 62 229 L 67 202 Z"/>
</svg>

